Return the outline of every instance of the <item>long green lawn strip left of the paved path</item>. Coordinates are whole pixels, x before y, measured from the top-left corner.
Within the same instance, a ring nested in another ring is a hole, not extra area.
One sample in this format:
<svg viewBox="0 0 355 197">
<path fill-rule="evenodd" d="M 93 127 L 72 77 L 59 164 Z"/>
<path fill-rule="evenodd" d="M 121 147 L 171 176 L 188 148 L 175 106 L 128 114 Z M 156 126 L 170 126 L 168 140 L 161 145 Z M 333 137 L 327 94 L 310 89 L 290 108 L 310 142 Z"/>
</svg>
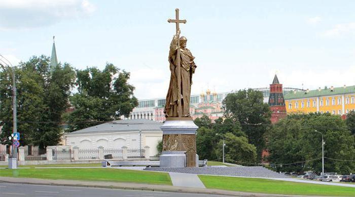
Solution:
<svg viewBox="0 0 355 197">
<path fill-rule="evenodd" d="M 107 168 L 0 169 L 0 176 L 172 185 L 168 173 Z"/>
</svg>

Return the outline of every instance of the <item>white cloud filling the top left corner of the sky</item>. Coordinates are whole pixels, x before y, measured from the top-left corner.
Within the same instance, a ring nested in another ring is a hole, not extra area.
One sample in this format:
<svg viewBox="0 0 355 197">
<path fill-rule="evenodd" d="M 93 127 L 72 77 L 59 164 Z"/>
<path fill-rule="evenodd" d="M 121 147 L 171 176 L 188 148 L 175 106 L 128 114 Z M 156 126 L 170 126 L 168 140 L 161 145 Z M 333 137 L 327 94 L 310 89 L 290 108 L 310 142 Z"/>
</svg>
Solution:
<svg viewBox="0 0 355 197">
<path fill-rule="evenodd" d="M 95 11 L 87 0 L 0 0 L 0 28 L 23 29 L 87 16 Z"/>
</svg>

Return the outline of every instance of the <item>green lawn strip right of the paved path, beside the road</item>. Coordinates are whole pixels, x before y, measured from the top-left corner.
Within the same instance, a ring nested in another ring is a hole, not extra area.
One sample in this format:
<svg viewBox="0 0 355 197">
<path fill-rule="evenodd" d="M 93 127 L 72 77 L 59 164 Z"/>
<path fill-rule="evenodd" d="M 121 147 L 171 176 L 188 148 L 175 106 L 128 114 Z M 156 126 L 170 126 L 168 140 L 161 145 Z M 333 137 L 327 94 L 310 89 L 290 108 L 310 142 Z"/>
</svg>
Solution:
<svg viewBox="0 0 355 197">
<path fill-rule="evenodd" d="M 198 175 L 207 188 L 285 195 L 355 196 L 355 188 L 261 178 Z"/>
</svg>

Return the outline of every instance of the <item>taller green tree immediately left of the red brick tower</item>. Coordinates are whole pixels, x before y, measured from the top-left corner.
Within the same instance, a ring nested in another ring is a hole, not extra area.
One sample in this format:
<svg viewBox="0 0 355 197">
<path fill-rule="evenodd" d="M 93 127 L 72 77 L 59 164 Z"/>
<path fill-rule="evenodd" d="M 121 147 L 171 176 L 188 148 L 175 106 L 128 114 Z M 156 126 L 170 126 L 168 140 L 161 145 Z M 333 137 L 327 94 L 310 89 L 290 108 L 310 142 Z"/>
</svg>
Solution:
<svg viewBox="0 0 355 197">
<path fill-rule="evenodd" d="M 257 147 L 258 160 L 265 149 L 264 133 L 270 125 L 271 111 L 262 92 L 248 89 L 230 93 L 222 102 L 225 116 L 240 122 L 249 143 Z"/>
</svg>

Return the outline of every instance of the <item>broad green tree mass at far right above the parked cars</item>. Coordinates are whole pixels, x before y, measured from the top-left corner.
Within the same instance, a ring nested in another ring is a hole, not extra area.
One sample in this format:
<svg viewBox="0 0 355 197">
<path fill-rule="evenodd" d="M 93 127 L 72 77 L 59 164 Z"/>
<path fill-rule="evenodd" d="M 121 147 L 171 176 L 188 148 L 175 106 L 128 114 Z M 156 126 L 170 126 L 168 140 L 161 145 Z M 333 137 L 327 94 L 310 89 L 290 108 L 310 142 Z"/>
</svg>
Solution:
<svg viewBox="0 0 355 197">
<path fill-rule="evenodd" d="M 271 163 L 302 164 L 283 165 L 282 170 L 322 171 L 322 135 L 326 142 L 326 172 L 350 173 L 355 170 L 355 139 L 345 121 L 339 116 L 326 114 L 290 115 L 276 123 L 268 133 L 269 160 Z M 315 160 L 314 160 L 315 159 Z M 337 160 L 332 160 L 337 159 Z M 349 161 L 338 161 L 349 160 Z"/>
</svg>

